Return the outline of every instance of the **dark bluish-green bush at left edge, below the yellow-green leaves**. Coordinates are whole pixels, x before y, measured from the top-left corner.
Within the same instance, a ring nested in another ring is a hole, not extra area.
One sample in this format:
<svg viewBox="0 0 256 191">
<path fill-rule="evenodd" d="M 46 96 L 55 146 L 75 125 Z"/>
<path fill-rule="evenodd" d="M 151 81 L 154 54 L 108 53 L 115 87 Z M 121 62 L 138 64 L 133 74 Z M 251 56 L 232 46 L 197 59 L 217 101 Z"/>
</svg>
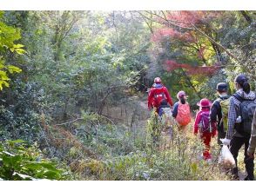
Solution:
<svg viewBox="0 0 256 191">
<path fill-rule="evenodd" d="M 37 83 L 15 81 L 13 89 L 0 95 L 0 141 L 22 139 L 38 141 L 40 133 L 39 107 L 44 91 Z M 43 109 L 43 108 L 42 108 Z"/>
</svg>

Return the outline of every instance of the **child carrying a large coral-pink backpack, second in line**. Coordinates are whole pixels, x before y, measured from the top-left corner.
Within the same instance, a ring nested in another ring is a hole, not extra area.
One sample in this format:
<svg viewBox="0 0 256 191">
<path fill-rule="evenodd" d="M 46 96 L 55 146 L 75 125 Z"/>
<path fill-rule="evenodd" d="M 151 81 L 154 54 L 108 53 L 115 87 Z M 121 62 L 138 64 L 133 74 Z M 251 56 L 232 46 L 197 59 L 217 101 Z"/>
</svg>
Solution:
<svg viewBox="0 0 256 191">
<path fill-rule="evenodd" d="M 179 91 L 177 94 L 178 102 L 173 106 L 172 116 L 179 123 L 179 130 L 186 131 L 186 125 L 191 122 L 190 106 L 186 102 L 185 91 Z"/>
</svg>

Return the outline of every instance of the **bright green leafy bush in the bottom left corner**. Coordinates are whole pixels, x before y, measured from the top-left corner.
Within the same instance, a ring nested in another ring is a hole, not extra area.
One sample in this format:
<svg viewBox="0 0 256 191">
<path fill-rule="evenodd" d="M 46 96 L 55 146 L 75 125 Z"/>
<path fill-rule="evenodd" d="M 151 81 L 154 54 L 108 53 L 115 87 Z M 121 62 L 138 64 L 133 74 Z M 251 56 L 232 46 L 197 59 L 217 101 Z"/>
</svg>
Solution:
<svg viewBox="0 0 256 191">
<path fill-rule="evenodd" d="M 63 171 L 43 158 L 37 145 L 29 147 L 22 140 L 3 142 L 0 147 L 0 178 L 3 180 L 61 180 Z"/>
</svg>

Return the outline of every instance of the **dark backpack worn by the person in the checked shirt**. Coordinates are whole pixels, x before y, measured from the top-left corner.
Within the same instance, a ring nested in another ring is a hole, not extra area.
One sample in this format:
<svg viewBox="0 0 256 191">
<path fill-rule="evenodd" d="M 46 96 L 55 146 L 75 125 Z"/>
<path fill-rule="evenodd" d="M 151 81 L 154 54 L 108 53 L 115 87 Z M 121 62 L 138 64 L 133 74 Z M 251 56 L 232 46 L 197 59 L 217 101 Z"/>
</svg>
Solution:
<svg viewBox="0 0 256 191">
<path fill-rule="evenodd" d="M 253 124 L 253 115 L 256 109 L 255 99 L 248 100 L 241 97 L 239 94 L 233 95 L 240 102 L 239 105 L 239 115 L 241 116 L 242 122 L 236 123 L 235 129 L 242 135 L 251 135 L 252 124 Z"/>
</svg>

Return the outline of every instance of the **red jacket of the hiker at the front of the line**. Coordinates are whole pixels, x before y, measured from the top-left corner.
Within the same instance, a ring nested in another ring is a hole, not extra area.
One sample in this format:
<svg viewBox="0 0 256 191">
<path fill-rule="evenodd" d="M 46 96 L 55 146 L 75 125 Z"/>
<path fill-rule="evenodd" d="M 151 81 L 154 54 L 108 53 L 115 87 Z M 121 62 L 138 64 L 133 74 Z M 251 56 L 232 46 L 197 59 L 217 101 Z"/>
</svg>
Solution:
<svg viewBox="0 0 256 191">
<path fill-rule="evenodd" d="M 148 95 L 148 109 L 151 109 L 152 107 L 158 107 L 160 106 L 158 102 L 155 101 L 155 95 L 161 95 L 164 93 L 165 95 L 165 100 L 172 106 L 172 97 L 170 96 L 168 89 L 165 88 L 165 86 L 161 85 L 160 87 L 156 88 L 153 87 Z"/>
</svg>

